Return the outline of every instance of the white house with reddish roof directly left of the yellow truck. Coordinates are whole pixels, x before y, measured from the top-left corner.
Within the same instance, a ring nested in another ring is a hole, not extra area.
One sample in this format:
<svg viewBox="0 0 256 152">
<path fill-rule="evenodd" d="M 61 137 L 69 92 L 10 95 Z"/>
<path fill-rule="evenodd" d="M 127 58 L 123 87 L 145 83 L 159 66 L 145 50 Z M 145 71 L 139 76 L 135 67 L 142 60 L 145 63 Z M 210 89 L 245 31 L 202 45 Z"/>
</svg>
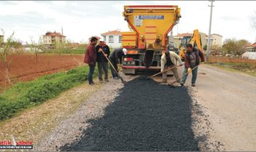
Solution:
<svg viewBox="0 0 256 152">
<path fill-rule="evenodd" d="M 118 48 L 122 46 L 122 33 L 120 30 L 112 30 L 101 34 L 107 46 Z"/>
</svg>

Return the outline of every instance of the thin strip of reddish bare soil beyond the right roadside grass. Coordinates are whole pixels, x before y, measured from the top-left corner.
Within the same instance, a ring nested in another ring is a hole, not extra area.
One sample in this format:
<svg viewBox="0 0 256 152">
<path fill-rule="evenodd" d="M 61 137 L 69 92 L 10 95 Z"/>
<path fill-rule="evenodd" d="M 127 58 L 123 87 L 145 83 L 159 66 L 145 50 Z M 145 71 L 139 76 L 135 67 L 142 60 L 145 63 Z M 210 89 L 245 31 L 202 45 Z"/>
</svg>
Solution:
<svg viewBox="0 0 256 152">
<path fill-rule="evenodd" d="M 253 59 L 243 59 L 243 58 L 231 58 L 226 56 L 209 56 L 210 63 L 218 63 L 218 62 L 235 62 L 235 63 L 255 63 L 256 60 Z"/>
</svg>

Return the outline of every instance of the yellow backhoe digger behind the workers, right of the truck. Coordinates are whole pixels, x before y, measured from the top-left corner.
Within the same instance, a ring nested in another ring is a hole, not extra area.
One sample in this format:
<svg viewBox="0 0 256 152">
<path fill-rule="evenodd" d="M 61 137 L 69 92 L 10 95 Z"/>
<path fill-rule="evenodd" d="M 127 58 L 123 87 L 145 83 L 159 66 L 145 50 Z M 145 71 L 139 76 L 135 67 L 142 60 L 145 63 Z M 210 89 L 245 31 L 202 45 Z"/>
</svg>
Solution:
<svg viewBox="0 0 256 152">
<path fill-rule="evenodd" d="M 181 60 L 184 61 L 184 56 L 186 53 L 186 44 L 191 43 L 193 47 L 197 47 L 199 51 L 202 53 L 202 41 L 201 41 L 201 35 L 199 34 L 198 30 L 194 30 L 193 36 L 184 36 L 181 38 L 181 48 L 180 48 L 180 53 L 179 56 L 181 56 Z"/>
</svg>

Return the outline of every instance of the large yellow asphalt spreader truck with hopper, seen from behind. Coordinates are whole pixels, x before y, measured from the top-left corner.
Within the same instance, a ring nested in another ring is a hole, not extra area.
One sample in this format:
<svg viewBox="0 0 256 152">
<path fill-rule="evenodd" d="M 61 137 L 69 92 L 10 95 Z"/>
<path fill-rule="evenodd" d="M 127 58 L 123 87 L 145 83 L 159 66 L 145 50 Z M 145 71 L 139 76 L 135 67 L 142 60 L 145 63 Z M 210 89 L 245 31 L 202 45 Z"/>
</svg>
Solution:
<svg viewBox="0 0 256 152">
<path fill-rule="evenodd" d="M 181 18 L 181 10 L 172 5 L 125 6 L 123 17 L 129 32 L 122 32 L 123 73 L 136 74 L 140 69 L 160 70 L 161 56 L 169 43 L 168 33 Z"/>
</svg>

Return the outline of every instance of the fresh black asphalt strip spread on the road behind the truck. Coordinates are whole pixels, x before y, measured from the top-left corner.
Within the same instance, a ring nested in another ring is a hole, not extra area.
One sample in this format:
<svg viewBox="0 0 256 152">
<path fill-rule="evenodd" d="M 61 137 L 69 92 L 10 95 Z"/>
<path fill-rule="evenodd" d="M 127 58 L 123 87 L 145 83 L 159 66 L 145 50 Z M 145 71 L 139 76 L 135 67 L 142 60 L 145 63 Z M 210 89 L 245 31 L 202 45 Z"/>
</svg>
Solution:
<svg viewBox="0 0 256 152">
<path fill-rule="evenodd" d="M 199 151 L 187 88 L 131 80 L 75 143 L 62 151 Z"/>
</svg>

